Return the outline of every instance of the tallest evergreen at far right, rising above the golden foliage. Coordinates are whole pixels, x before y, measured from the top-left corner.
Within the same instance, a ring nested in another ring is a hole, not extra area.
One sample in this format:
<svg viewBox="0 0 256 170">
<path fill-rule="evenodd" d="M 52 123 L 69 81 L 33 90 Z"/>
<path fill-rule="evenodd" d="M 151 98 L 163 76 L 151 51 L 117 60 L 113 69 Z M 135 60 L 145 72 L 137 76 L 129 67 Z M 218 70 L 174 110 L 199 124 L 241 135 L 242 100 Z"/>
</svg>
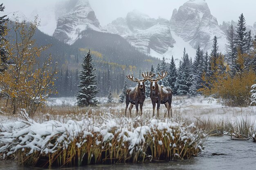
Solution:
<svg viewBox="0 0 256 170">
<path fill-rule="evenodd" d="M 244 54 L 246 53 L 246 26 L 243 13 L 239 16 L 236 29 L 236 48 L 240 50 L 241 54 Z"/>
</svg>

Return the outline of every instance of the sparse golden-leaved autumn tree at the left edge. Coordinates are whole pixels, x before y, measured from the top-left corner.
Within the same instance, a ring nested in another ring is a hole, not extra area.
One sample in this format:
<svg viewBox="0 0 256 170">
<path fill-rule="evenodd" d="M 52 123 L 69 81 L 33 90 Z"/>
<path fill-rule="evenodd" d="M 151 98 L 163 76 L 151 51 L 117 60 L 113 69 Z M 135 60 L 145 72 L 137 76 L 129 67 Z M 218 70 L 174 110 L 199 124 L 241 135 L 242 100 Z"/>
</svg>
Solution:
<svg viewBox="0 0 256 170">
<path fill-rule="evenodd" d="M 39 62 L 41 52 L 48 46 L 38 47 L 36 40 L 32 39 L 38 25 L 37 18 L 29 24 L 25 21 L 11 22 L 15 37 L 5 44 L 5 49 L 12 64 L 0 74 L 0 88 L 10 100 L 13 114 L 24 108 L 32 115 L 38 106 L 45 103 L 49 94 L 54 93 L 51 87 L 56 65 L 52 67 L 51 56 Z"/>
</svg>

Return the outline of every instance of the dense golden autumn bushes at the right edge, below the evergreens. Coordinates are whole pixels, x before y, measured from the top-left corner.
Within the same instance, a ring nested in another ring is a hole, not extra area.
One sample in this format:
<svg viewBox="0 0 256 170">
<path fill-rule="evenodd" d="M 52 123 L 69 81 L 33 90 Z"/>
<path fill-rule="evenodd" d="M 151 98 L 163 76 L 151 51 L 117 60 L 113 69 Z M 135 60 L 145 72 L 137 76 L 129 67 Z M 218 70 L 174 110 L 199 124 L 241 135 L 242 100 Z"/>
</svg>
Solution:
<svg viewBox="0 0 256 170">
<path fill-rule="evenodd" d="M 205 73 L 203 74 L 202 79 L 206 83 L 199 91 L 204 95 L 220 99 L 228 106 L 248 106 L 251 86 L 255 84 L 256 75 L 252 68 L 245 69 L 245 57 L 248 55 L 238 51 L 236 60 L 238 71 L 232 75 L 229 66 L 225 64 L 223 56 L 220 55 L 216 64 L 218 68 L 215 68 L 215 71 L 212 69 L 211 76 L 207 77 Z"/>
</svg>

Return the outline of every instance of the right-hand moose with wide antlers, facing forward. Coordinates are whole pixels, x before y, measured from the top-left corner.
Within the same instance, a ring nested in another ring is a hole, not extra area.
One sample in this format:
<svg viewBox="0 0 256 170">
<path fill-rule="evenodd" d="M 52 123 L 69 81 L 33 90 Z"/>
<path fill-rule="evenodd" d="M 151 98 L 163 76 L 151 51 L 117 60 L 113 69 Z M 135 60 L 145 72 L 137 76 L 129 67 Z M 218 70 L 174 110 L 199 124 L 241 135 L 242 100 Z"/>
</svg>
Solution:
<svg viewBox="0 0 256 170">
<path fill-rule="evenodd" d="M 168 110 L 168 117 L 170 117 L 170 112 L 171 112 L 171 117 L 172 117 L 172 108 L 171 108 L 171 103 L 172 103 L 172 97 L 173 97 L 173 91 L 170 87 L 163 87 L 160 86 L 157 81 L 160 79 L 163 79 L 166 75 L 168 74 L 167 71 L 160 75 L 158 72 L 158 77 L 156 79 L 152 79 L 151 77 L 148 77 L 146 72 L 142 72 L 142 76 L 144 79 L 147 79 L 150 81 L 150 99 L 153 104 L 153 117 L 155 115 L 155 105 L 157 104 L 157 117 L 159 117 L 159 108 L 160 104 L 164 104 L 165 107 Z"/>
</svg>

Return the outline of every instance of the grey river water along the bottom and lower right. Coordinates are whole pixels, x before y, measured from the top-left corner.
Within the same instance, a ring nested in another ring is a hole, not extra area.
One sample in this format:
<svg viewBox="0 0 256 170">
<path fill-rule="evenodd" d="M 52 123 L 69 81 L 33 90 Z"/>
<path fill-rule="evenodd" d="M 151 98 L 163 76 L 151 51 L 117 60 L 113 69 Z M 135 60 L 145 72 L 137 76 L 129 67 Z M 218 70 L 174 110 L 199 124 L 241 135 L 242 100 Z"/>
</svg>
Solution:
<svg viewBox="0 0 256 170">
<path fill-rule="evenodd" d="M 256 143 L 234 141 L 229 136 L 209 137 L 205 152 L 189 160 L 166 163 L 91 165 L 53 170 L 256 170 Z M 48 170 L 18 166 L 14 161 L 0 161 L 0 170 Z"/>
</svg>

